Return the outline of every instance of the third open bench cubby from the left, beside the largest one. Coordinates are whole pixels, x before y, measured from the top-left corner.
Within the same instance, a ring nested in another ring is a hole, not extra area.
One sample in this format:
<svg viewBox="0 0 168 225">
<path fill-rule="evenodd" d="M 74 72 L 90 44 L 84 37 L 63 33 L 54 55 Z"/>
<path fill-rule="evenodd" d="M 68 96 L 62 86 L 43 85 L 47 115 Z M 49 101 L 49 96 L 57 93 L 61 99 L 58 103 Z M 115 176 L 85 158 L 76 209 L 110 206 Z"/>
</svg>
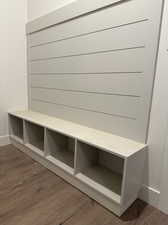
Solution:
<svg viewBox="0 0 168 225">
<path fill-rule="evenodd" d="M 47 129 L 46 149 L 49 159 L 56 159 L 74 169 L 75 139 Z M 52 158 L 51 158 L 52 157 Z M 56 162 L 56 161 L 55 161 Z"/>
</svg>

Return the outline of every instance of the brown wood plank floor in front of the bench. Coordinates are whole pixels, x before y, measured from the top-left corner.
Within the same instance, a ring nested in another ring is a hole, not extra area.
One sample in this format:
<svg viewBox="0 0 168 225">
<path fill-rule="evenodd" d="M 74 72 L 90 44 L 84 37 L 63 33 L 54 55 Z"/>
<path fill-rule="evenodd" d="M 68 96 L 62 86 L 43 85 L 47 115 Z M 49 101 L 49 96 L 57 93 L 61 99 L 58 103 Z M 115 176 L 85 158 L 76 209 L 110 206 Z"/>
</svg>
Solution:
<svg viewBox="0 0 168 225">
<path fill-rule="evenodd" d="M 0 147 L 0 225 L 168 225 L 137 200 L 121 217 L 9 145 Z"/>
</svg>

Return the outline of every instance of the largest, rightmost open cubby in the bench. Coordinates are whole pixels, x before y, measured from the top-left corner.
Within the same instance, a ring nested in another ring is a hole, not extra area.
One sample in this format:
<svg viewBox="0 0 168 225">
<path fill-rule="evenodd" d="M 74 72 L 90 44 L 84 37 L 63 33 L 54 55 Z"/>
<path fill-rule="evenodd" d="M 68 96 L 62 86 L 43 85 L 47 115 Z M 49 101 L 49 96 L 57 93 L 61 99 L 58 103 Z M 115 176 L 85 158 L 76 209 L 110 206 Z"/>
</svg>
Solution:
<svg viewBox="0 0 168 225">
<path fill-rule="evenodd" d="M 117 196 L 120 201 L 124 159 L 78 141 L 77 176 L 107 195 Z"/>
</svg>

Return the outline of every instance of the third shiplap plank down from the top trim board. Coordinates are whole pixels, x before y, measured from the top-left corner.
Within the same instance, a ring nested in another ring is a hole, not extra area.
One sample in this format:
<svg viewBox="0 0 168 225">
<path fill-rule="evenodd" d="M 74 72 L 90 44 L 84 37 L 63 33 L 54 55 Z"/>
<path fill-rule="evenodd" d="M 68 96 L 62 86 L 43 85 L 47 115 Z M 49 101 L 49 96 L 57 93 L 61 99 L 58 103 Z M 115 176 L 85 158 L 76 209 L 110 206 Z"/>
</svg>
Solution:
<svg viewBox="0 0 168 225">
<path fill-rule="evenodd" d="M 33 61 L 31 73 L 137 72 L 145 69 L 145 49 Z"/>
</svg>

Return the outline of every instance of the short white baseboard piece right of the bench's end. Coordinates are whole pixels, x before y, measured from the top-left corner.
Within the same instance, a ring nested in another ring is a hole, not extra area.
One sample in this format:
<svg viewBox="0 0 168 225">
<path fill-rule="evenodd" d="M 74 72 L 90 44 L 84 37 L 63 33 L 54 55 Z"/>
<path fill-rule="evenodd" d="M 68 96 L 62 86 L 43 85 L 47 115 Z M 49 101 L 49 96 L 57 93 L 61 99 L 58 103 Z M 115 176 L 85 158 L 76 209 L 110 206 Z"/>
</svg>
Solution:
<svg viewBox="0 0 168 225">
<path fill-rule="evenodd" d="M 143 186 L 139 198 L 145 202 L 147 202 L 149 205 L 152 205 L 155 208 L 159 207 L 159 198 L 160 198 L 160 191 L 148 187 L 148 186 Z"/>
</svg>

